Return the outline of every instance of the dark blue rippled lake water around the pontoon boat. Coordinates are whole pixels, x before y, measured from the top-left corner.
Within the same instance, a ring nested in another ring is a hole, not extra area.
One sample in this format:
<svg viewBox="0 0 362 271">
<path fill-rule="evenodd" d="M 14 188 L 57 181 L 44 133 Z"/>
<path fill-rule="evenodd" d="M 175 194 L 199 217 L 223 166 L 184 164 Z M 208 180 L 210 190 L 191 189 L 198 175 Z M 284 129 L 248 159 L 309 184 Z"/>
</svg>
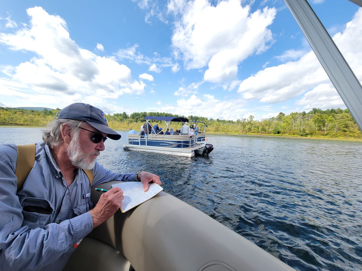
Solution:
<svg viewBox="0 0 362 271">
<path fill-rule="evenodd" d="M 362 143 L 217 136 L 193 159 L 123 150 L 98 162 L 158 174 L 168 192 L 297 270 L 362 270 Z M 0 128 L 0 143 L 41 140 L 40 128 Z"/>
</svg>

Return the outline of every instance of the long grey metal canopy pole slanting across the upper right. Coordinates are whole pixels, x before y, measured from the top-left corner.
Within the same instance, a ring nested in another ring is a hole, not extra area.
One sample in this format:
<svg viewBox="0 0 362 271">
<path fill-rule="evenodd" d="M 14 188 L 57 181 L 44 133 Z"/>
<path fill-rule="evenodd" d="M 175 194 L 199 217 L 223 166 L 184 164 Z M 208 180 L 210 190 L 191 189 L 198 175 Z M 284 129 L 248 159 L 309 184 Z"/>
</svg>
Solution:
<svg viewBox="0 0 362 271">
<path fill-rule="evenodd" d="M 362 86 L 307 0 L 284 0 L 329 79 L 362 130 Z M 361 4 L 361 0 L 350 0 Z M 357 3 L 356 3 L 357 4 Z"/>
</svg>

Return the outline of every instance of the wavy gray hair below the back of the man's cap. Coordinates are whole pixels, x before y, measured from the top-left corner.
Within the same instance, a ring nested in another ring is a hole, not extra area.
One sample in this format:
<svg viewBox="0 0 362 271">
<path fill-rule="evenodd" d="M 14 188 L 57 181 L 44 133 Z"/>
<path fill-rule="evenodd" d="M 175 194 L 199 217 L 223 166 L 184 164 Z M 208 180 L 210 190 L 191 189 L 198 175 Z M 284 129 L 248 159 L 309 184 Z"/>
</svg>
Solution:
<svg viewBox="0 0 362 271">
<path fill-rule="evenodd" d="M 48 146 L 58 146 L 63 142 L 62 127 L 64 124 L 71 126 L 74 133 L 79 133 L 79 126 L 84 124 L 85 121 L 80 120 L 68 120 L 68 119 L 55 119 L 49 122 L 47 129 L 44 129 L 42 139 Z"/>
</svg>

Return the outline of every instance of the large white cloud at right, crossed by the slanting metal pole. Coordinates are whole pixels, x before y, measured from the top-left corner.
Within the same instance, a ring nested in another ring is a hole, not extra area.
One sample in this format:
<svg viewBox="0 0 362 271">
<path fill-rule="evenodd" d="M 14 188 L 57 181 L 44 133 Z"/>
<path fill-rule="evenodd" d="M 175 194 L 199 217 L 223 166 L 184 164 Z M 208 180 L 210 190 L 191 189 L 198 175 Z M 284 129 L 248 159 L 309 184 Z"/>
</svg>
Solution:
<svg viewBox="0 0 362 271">
<path fill-rule="evenodd" d="M 357 11 L 352 21 L 345 25 L 343 33 L 333 36 L 334 42 L 360 81 L 362 80 L 361 24 L 362 8 Z M 343 106 L 329 83 L 330 80 L 314 52 L 310 51 L 296 61 L 260 70 L 242 81 L 238 92 L 244 99 L 259 100 L 264 103 L 284 102 L 306 93 L 297 101 L 297 104 L 304 105 L 306 109 L 311 106 L 321 108 Z M 323 93 L 321 97 L 315 96 L 318 91 Z M 315 102 L 312 102 L 311 98 L 316 99 Z"/>
</svg>

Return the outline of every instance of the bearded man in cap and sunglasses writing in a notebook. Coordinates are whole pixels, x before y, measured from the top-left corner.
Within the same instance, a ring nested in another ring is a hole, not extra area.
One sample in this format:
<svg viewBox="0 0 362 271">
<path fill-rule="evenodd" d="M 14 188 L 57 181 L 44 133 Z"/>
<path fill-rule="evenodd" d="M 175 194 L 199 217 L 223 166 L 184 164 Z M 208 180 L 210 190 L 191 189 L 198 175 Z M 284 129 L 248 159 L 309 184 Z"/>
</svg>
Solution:
<svg viewBox="0 0 362 271">
<path fill-rule="evenodd" d="M 107 138 L 121 135 L 108 127 L 104 113 L 74 103 L 35 145 L 35 162 L 17 192 L 17 146 L 0 145 L 0 270 L 62 270 L 77 244 L 121 206 L 123 192 L 112 188 L 97 205 L 90 201 L 90 182 L 81 169 L 91 169 L 93 185 L 112 180 L 161 185 L 150 172 L 117 174 L 96 162 Z"/>
</svg>

